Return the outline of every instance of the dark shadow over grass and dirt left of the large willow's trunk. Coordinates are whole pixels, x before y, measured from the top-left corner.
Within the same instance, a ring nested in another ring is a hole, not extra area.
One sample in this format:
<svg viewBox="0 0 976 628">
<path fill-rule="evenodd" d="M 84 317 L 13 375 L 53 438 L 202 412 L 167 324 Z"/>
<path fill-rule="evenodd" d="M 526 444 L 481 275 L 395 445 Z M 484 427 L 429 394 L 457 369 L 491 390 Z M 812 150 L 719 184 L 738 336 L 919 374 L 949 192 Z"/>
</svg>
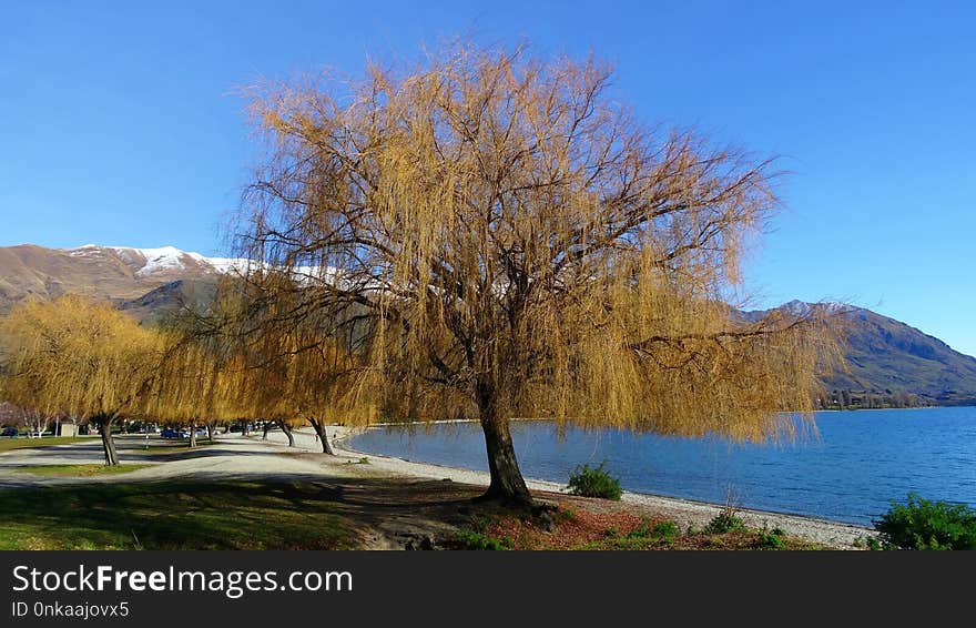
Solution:
<svg viewBox="0 0 976 628">
<path fill-rule="evenodd" d="M 479 490 L 311 475 L 0 490 L 0 549 L 393 548 L 451 534 Z"/>
</svg>

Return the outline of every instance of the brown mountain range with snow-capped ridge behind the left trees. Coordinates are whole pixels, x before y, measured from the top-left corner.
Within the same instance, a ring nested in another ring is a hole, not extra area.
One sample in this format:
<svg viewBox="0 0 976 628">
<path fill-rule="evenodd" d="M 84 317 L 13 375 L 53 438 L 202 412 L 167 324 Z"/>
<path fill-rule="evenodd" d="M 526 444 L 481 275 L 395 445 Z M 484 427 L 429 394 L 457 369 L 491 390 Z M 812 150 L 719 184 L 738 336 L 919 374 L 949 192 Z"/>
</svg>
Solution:
<svg viewBox="0 0 976 628">
<path fill-rule="evenodd" d="M 52 298 L 65 293 L 116 302 L 136 300 L 172 282 L 214 282 L 237 263 L 173 246 L 0 247 L 0 312 L 30 296 Z"/>
</svg>

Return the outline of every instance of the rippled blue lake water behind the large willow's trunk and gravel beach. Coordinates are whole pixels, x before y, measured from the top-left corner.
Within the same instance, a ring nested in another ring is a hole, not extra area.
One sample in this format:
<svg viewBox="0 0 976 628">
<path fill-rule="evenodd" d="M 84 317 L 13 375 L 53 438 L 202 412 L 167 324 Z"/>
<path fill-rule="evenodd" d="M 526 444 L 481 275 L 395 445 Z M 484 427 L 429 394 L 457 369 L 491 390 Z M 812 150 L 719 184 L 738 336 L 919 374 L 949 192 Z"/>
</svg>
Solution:
<svg viewBox="0 0 976 628">
<path fill-rule="evenodd" d="M 817 434 L 793 444 L 736 445 L 617 429 L 514 422 L 526 477 L 565 483 L 606 460 L 632 492 L 871 525 L 908 492 L 976 507 L 976 407 L 816 413 Z M 370 429 L 364 453 L 487 470 L 477 424 Z"/>
</svg>

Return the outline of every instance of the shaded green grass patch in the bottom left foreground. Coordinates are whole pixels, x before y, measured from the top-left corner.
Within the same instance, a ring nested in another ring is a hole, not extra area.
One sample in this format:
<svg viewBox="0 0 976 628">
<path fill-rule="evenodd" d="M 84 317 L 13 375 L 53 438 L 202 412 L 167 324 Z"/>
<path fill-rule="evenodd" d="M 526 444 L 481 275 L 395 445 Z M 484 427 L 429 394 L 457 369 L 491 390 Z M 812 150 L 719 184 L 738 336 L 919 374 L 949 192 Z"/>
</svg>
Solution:
<svg viewBox="0 0 976 628">
<path fill-rule="evenodd" d="M 0 549 L 346 549 L 314 483 L 160 482 L 0 490 Z"/>
</svg>

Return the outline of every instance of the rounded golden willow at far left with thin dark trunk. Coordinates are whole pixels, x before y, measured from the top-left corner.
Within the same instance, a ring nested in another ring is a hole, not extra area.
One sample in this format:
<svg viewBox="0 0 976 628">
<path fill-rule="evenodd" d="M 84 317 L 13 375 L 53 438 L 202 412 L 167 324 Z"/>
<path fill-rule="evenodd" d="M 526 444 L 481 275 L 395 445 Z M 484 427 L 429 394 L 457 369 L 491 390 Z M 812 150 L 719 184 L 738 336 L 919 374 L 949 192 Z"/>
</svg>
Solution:
<svg viewBox="0 0 976 628">
<path fill-rule="evenodd" d="M 105 464 L 119 464 L 112 424 L 140 413 L 162 336 L 108 303 L 80 296 L 23 303 L 0 327 L 4 396 L 42 414 L 94 424 Z"/>
</svg>

